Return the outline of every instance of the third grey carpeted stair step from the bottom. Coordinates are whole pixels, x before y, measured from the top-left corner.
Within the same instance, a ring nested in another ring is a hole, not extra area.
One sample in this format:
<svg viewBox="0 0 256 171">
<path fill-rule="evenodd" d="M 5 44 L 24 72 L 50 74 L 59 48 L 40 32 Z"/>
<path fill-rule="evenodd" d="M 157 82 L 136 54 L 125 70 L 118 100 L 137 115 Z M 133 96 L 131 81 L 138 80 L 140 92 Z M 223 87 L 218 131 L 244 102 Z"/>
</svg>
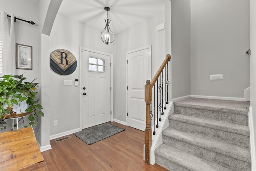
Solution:
<svg viewBox="0 0 256 171">
<path fill-rule="evenodd" d="M 249 128 L 245 125 L 174 113 L 169 115 L 169 127 L 249 148 Z"/>
</svg>

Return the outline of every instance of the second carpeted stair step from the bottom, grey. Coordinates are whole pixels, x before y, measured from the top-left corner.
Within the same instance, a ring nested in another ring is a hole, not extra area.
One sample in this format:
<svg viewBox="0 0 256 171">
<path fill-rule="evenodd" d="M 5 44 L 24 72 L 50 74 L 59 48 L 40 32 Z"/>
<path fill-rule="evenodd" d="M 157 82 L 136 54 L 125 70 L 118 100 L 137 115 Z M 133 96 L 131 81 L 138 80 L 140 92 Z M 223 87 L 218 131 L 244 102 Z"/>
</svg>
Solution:
<svg viewBox="0 0 256 171">
<path fill-rule="evenodd" d="M 250 171 L 249 148 L 214 140 L 170 127 L 163 132 L 163 143 L 234 171 Z M 156 152 L 157 153 L 157 152 Z"/>
</svg>

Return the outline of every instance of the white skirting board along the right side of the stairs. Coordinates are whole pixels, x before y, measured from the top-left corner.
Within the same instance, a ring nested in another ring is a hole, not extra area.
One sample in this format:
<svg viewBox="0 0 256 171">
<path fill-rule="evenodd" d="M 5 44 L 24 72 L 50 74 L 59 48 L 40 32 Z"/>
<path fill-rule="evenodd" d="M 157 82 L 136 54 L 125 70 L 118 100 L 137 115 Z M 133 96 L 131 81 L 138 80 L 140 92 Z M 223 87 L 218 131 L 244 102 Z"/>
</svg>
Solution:
<svg viewBox="0 0 256 171">
<path fill-rule="evenodd" d="M 256 171 L 256 149 L 255 149 L 255 137 L 254 137 L 254 125 L 252 120 L 252 107 L 249 107 L 248 113 L 248 125 L 250 129 L 250 151 L 251 151 L 251 170 Z"/>
</svg>

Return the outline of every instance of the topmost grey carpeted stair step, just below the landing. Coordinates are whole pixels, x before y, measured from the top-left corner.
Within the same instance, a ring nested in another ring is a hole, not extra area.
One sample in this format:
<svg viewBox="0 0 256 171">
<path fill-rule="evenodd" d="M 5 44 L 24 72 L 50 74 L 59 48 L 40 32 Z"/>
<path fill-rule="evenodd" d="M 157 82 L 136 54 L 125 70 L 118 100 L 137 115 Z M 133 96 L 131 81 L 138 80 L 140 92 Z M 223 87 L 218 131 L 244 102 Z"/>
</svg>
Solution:
<svg viewBox="0 0 256 171">
<path fill-rule="evenodd" d="M 248 125 L 249 105 L 248 101 L 188 98 L 174 103 L 174 113 Z"/>
</svg>

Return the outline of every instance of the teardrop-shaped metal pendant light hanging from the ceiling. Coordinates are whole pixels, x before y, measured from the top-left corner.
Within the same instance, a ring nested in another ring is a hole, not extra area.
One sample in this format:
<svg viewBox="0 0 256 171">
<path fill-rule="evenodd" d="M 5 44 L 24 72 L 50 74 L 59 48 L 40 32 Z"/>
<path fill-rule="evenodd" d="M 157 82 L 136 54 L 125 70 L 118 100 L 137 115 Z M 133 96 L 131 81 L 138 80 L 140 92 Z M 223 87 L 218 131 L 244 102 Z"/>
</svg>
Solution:
<svg viewBox="0 0 256 171">
<path fill-rule="evenodd" d="M 109 23 L 110 21 L 108 21 L 108 11 L 110 11 L 109 7 L 105 7 L 104 10 L 107 11 L 107 20 L 105 19 L 105 23 L 106 26 L 104 28 L 104 30 L 101 32 L 100 37 L 103 43 L 105 43 L 106 45 L 108 45 L 109 43 L 112 43 L 114 41 L 114 34 L 112 33 L 112 31 L 110 30 L 109 27 Z"/>
</svg>

